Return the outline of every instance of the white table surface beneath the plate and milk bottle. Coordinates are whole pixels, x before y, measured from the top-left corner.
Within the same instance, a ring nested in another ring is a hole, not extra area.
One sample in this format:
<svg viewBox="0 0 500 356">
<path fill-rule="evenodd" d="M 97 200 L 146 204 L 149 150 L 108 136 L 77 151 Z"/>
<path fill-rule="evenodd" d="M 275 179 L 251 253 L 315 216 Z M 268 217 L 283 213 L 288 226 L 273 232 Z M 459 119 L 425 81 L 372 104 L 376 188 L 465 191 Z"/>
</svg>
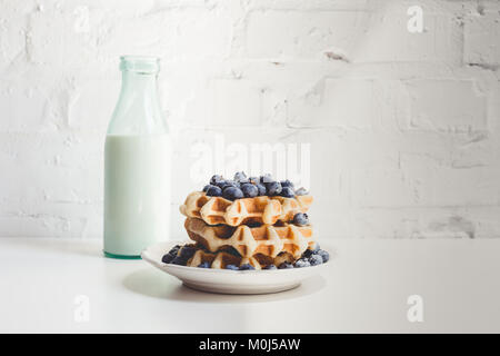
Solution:
<svg viewBox="0 0 500 356">
<path fill-rule="evenodd" d="M 500 240 L 330 240 L 322 276 L 273 295 L 183 287 L 100 240 L 0 238 L 0 332 L 500 332 Z M 77 322 L 76 298 L 89 320 Z M 423 322 L 410 323 L 410 295 Z"/>
</svg>

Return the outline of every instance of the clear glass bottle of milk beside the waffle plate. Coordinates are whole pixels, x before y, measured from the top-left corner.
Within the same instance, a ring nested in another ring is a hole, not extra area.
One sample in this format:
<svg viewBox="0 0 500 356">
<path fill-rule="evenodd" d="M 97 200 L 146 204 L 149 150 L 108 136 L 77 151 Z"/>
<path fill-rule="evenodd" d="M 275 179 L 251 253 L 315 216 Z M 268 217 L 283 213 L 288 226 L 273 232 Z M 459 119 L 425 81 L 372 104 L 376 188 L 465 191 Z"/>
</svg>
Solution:
<svg viewBox="0 0 500 356">
<path fill-rule="evenodd" d="M 140 258 L 168 235 L 170 137 L 158 99 L 159 59 L 121 57 L 120 69 L 104 146 L 104 255 Z"/>
</svg>

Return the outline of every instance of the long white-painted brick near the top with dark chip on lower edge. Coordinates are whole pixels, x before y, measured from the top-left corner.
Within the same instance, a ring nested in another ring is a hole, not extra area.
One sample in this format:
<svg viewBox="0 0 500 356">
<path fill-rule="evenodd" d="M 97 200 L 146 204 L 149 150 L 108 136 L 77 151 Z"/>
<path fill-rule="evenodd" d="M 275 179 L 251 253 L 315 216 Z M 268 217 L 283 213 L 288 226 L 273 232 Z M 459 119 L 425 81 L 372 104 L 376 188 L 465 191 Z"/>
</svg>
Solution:
<svg viewBox="0 0 500 356">
<path fill-rule="evenodd" d="M 248 24 L 248 53 L 347 62 L 459 62 L 462 37 L 453 17 L 424 9 L 423 31 L 411 33 L 407 29 L 410 6 L 388 2 L 371 12 L 254 11 Z"/>
</svg>

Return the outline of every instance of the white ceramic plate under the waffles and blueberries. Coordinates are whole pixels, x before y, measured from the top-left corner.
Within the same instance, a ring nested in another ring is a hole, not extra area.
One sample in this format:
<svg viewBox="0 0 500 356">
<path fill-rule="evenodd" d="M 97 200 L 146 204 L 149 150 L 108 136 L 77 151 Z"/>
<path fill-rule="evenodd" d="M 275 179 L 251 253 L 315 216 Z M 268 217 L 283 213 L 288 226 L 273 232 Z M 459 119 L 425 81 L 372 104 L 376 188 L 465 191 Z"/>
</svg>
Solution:
<svg viewBox="0 0 500 356">
<path fill-rule="evenodd" d="M 211 293 L 264 294 L 288 290 L 317 275 L 328 264 L 277 270 L 228 270 L 163 264 L 163 255 L 178 244 L 183 245 L 186 241 L 152 245 L 142 251 L 141 257 L 162 271 L 176 276 L 184 286 Z"/>
</svg>

